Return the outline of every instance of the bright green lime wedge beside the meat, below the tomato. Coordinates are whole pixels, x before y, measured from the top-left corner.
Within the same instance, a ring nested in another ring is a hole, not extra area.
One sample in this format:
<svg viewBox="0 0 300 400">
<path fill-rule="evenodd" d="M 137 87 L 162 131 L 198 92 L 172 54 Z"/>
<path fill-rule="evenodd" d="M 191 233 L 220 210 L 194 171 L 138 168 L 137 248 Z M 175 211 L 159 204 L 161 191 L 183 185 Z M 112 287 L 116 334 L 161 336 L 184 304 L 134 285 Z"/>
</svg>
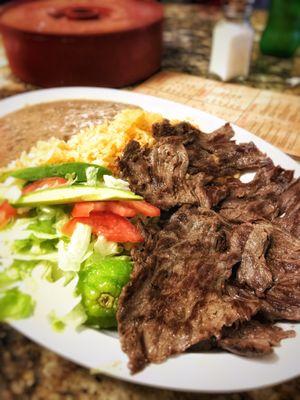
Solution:
<svg viewBox="0 0 300 400">
<path fill-rule="evenodd" d="M 87 314 L 87 324 L 100 328 L 117 326 L 116 311 L 123 286 L 129 281 L 129 257 L 92 255 L 79 274 L 78 290 Z"/>
</svg>

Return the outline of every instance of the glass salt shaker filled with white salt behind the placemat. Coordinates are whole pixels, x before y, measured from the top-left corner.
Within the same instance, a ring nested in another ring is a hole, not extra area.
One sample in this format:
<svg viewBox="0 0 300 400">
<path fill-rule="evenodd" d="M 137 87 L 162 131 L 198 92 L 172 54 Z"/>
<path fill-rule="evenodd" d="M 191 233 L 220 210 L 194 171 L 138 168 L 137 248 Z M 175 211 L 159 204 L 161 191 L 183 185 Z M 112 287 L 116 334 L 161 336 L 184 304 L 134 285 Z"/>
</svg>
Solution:
<svg viewBox="0 0 300 400">
<path fill-rule="evenodd" d="M 223 81 L 249 73 L 254 30 L 250 15 L 254 0 L 224 1 L 224 18 L 213 31 L 209 72 Z"/>
</svg>

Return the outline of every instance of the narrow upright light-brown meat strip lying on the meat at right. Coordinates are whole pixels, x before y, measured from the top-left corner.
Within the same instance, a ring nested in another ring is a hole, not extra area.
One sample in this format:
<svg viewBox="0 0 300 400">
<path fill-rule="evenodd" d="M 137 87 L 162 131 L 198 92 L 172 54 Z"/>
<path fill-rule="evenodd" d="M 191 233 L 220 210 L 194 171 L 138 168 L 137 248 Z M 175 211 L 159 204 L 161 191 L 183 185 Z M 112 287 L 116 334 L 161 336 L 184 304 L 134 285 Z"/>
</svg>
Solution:
<svg viewBox="0 0 300 400">
<path fill-rule="evenodd" d="M 270 226 L 253 225 L 237 272 L 237 281 L 253 290 L 258 297 L 261 297 L 273 283 L 272 273 L 265 259 L 271 231 Z"/>
</svg>

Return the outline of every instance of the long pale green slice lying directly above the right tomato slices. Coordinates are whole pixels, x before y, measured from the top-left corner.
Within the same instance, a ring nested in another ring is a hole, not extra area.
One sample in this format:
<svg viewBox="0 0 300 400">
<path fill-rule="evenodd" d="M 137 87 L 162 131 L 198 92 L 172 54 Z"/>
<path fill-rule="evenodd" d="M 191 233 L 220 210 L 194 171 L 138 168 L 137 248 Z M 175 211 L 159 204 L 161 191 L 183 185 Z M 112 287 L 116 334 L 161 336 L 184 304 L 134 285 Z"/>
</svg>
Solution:
<svg viewBox="0 0 300 400">
<path fill-rule="evenodd" d="M 47 204 L 68 204 L 83 201 L 141 200 L 142 197 L 129 190 L 101 186 L 61 186 L 30 192 L 17 200 L 14 205 L 34 207 Z"/>
</svg>

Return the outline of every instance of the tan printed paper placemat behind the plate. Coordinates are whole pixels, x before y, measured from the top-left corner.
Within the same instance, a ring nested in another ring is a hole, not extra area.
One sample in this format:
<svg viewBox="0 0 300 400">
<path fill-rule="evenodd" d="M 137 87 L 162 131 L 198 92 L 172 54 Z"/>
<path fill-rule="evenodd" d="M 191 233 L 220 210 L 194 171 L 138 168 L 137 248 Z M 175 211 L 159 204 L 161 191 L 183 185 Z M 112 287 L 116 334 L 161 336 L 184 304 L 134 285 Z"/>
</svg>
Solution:
<svg viewBox="0 0 300 400">
<path fill-rule="evenodd" d="M 134 89 L 199 108 L 300 157 L 300 98 L 177 72 L 160 72 Z"/>
</svg>

